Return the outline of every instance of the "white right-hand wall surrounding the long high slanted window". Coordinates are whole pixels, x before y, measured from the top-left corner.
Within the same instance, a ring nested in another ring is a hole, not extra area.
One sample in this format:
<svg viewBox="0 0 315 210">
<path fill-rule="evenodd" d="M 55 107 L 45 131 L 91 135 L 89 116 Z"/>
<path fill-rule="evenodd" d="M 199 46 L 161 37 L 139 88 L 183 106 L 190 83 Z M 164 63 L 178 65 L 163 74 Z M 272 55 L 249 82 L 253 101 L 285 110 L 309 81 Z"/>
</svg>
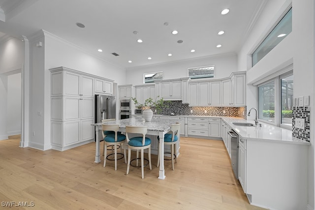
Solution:
<svg viewBox="0 0 315 210">
<path fill-rule="evenodd" d="M 314 0 L 292 0 L 292 32 L 254 67 L 249 66 L 249 55 L 290 3 L 290 0 L 267 1 L 264 11 L 238 54 L 238 70 L 248 70 L 248 83 L 252 84 L 293 63 L 294 97 L 311 97 L 309 188 L 307 195 L 301 195 L 301 199 L 308 197 L 308 209 L 314 210 Z M 249 86 L 252 91 L 247 91 L 247 106 L 257 107 L 257 101 L 253 100 L 257 97 L 252 97 L 256 95 L 256 88 Z"/>
</svg>

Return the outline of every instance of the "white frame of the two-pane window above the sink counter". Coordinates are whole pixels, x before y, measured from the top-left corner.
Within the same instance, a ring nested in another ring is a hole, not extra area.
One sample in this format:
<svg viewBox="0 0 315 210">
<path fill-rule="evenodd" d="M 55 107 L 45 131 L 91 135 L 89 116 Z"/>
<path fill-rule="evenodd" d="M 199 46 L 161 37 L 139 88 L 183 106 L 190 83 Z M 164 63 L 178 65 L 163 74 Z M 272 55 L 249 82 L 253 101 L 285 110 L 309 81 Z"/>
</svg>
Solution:
<svg viewBox="0 0 315 210">
<path fill-rule="evenodd" d="M 281 109 L 281 79 L 288 77 L 290 75 L 293 75 L 293 67 L 292 69 L 290 69 L 289 71 L 286 71 L 285 73 L 282 73 L 278 76 L 273 77 L 272 79 L 269 79 L 267 81 L 264 81 L 262 83 L 259 83 L 256 85 L 257 88 L 257 112 L 258 112 L 258 121 L 264 122 L 264 123 L 268 123 L 268 124 L 272 124 L 281 128 L 285 128 L 288 130 L 292 130 L 292 126 L 290 125 L 286 125 L 286 124 L 282 124 L 281 120 L 282 120 L 282 109 Z M 258 87 L 261 87 L 265 84 L 268 84 L 270 82 L 274 82 L 275 83 L 275 120 L 274 122 L 271 121 L 267 121 L 267 120 L 262 120 L 259 118 L 259 107 L 258 107 L 258 99 L 259 99 L 259 94 L 258 94 Z M 294 75 L 293 75 L 293 87 L 294 87 Z M 293 89 L 294 91 L 294 89 Z"/>
</svg>

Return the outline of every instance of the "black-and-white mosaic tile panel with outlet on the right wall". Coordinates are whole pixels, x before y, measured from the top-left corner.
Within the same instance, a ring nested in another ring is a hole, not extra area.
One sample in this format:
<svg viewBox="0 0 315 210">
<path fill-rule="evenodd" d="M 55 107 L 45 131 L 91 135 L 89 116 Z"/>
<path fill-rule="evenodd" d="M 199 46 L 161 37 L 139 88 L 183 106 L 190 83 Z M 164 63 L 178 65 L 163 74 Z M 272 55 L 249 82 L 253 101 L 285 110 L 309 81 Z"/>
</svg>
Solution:
<svg viewBox="0 0 315 210">
<path fill-rule="evenodd" d="M 293 116 L 292 116 L 292 137 L 305 140 L 310 142 L 310 107 L 301 106 L 293 107 Z M 305 128 L 295 127 L 295 119 L 301 118 L 305 120 Z"/>
</svg>

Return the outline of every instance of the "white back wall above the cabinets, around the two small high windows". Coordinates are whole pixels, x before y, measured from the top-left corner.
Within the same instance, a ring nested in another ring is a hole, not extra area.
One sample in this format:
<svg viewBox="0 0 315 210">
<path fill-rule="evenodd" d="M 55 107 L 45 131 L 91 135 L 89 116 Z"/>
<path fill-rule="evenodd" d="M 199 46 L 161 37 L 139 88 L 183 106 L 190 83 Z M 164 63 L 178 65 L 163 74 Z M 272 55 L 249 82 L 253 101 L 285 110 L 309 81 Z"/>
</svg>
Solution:
<svg viewBox="0 0 315 210">
<path fill-rule="evenodd" d="M 231 72 L 237 71 L 237 55 L 229 54 L 129 68 L 126 70 L 126 84 L 124 85 L 142 85 L 144 73 L 162 71 L 163 79 L 179 79 L 188 77 L 188 68 L 208 65 L 215 65 L 214 79 L 228 77 L 230 76 Z"/>
</svg>

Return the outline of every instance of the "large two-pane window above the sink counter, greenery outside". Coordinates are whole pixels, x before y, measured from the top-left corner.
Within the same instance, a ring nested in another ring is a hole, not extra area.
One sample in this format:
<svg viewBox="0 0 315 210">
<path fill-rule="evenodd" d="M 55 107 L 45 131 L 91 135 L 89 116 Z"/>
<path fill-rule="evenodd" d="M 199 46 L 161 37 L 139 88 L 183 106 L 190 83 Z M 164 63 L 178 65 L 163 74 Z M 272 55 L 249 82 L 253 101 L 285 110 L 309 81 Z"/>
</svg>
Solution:
<svg viewBox="0 0 315 210">
<path fill-rule="evenodd" d="M 292 129 L 293 70 L 257 86 L 258 119 Z"/>
</svg>

